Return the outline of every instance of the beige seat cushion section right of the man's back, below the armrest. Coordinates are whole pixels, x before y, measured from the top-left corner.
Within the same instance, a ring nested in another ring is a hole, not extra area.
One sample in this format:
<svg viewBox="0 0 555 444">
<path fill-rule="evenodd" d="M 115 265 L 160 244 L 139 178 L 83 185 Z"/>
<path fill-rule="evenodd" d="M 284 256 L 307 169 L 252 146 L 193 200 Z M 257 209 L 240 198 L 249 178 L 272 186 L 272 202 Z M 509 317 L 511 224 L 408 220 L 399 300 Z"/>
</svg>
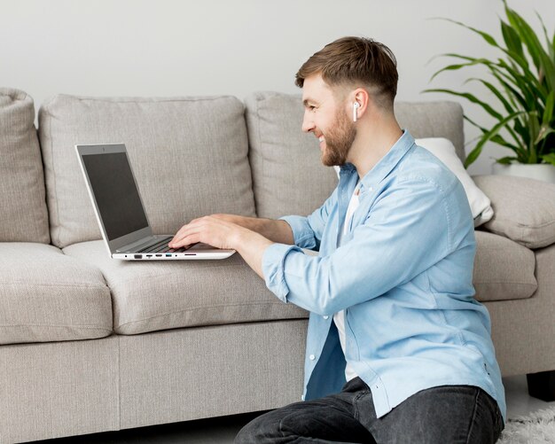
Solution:
<svg viewBox="0 0 555 444">
<path fill-rule="evenodd" d="M 537 289 L 535 255 L 527 247 L 488 231 L 476 231 L 473 284 L 481 301 L 517 300 Z"/>
</svg>

